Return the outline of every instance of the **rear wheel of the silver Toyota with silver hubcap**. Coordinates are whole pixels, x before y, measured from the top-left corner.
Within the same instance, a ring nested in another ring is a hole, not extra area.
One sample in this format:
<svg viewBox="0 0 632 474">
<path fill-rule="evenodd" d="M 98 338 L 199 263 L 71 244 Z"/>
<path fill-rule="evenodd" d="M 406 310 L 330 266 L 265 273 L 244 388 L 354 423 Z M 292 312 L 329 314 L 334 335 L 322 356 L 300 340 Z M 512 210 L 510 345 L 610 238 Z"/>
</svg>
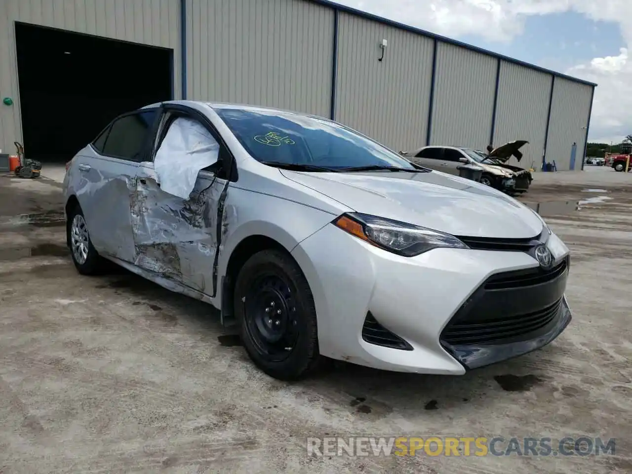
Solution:
<svg viewBox="0 0 632 474">
<path fill-rule="evenodd" d="M 82 275 L 97 275 L 104 268 L 104 261 L 92 245 L 83 210 L 76 205 L 66 221 L 66 241 L 77 271 Z"/>
</svg>

